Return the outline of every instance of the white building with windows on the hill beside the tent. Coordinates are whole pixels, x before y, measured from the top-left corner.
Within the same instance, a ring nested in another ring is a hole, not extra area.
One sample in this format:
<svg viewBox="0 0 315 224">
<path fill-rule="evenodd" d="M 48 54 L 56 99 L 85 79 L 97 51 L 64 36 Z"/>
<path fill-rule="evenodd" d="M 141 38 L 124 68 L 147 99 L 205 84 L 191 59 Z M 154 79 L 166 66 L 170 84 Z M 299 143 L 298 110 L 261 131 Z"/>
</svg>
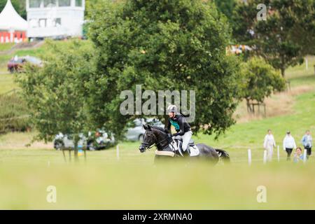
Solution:
<svg viewBox="0 0 315 224">
<path fill-rule="evenodd" d="M 82 36 L 85 0 L 26 0 L 27 37 Z"/>
</svg>

